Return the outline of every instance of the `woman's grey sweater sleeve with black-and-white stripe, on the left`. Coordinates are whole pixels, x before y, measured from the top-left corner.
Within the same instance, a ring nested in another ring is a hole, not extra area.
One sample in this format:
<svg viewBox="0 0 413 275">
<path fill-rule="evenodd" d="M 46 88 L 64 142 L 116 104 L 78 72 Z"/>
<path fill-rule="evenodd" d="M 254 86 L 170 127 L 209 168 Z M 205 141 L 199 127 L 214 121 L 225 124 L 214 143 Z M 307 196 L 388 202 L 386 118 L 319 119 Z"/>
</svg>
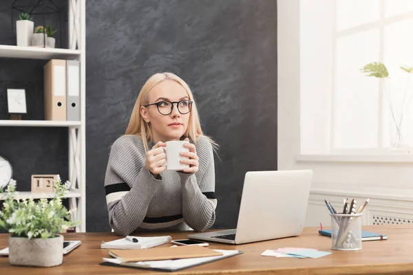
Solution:
<svg viewBox="0 0 413 275">
<path fill-rule="evenodd" d="M 117 234 L 136 230 L 147 213 L 160 180 L 145 168 L 145 155 L 127 135 L 112 145 L 105 176 L 109 225 Z"/>
</svg>

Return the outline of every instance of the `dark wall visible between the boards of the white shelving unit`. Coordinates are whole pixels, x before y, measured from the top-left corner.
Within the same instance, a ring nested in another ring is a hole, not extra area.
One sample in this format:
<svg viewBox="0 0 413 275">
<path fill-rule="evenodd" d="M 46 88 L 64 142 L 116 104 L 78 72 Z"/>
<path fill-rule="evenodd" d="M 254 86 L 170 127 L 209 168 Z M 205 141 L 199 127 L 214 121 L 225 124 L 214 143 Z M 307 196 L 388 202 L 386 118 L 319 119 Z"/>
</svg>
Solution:
<svg viewBox="0 0 413 275">
<path fill-rule="evenodd" d="M 0 44 L 16 45 L 15 21 L 19 12 L 14 11 L 14 0 L 1 0 Z M 18 1 L 20 5 L 34 5 L 37 0 Z M 61 8 L 62 17 L 49 14 L 46 25 L 58 28 L 56 47 L 67 44 L 67 5 L 55 1 Z M 59 28 L 59 20 L 62 28 Z M 34 25 L 43 25 L 39 16 L 33 17 Z M 62 33 L 62 39 L 59 34 Z M 7 88 L 26 89 L 28 114 L 24 120 L 43 120 L 43 65 L 47 61 L 0 58 L 0 120 L 8 119 Z M 30 191 L 32 174 L 59 173 L 63 181 L 67 171 L 67 127 L 0 127 L 0 155 L 6 156 L 13 167 L 13 178 L 19 191 Z"/>
</svg>

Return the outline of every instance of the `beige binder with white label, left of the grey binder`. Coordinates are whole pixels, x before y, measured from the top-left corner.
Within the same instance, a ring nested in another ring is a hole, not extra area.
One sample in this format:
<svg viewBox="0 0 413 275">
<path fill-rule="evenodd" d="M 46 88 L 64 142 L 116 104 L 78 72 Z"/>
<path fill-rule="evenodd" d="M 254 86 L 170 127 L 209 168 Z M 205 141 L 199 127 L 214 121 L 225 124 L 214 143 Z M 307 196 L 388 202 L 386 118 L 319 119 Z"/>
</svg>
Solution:
<svg viewBox="0 0 413 275">
<path fill-rule="evenodd" d="M 45 120 L 66 120 L 66 61 L 52 59 L 43 67 Z"/>
</svg>

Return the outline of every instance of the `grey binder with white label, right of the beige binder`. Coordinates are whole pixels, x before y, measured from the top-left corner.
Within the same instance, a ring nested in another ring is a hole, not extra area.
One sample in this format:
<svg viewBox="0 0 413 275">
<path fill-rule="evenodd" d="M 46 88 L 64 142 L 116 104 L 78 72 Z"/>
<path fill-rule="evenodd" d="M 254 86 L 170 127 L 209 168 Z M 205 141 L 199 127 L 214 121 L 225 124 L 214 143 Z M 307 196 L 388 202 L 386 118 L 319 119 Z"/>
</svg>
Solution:
<svg viewBox="0 0 413 275">
<path fill-rule="evenodd" d="M 68 121 L 81 120 L 81 69 L 79 61 L 66 61 L 66 116 Z"/>
</svg>

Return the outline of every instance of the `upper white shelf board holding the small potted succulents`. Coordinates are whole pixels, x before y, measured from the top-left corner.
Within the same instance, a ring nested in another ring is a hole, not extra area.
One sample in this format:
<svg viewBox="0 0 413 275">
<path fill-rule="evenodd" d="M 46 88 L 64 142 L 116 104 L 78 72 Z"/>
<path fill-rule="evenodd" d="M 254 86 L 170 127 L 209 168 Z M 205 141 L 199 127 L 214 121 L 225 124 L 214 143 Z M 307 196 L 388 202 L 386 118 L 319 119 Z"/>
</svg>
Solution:
<svg viewBox="0 0 413 275">
<path fill-rule="evenodd" d="M 80 50 L 56 49 L 50 47 L 18 47 L 0 45 L 0 57 L 30 58 L 30 59 L 76 59 L 81 55 Z"/>
</svg>

